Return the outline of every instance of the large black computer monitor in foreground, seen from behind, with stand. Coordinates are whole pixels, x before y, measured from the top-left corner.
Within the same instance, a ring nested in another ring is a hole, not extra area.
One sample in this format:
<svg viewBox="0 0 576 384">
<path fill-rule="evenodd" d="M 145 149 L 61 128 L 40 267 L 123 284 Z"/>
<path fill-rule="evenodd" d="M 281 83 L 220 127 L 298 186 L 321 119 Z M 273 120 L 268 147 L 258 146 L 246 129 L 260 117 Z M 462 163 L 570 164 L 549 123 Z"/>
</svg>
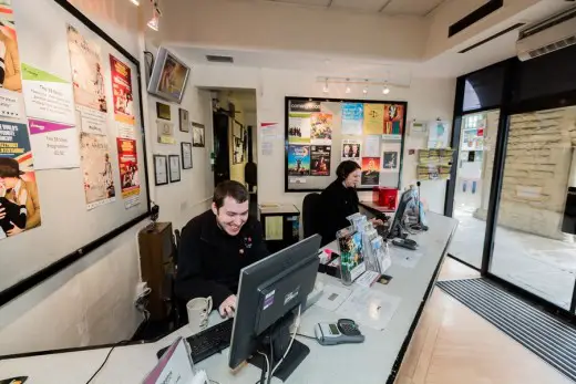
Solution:
<svg viewBox="0 0 576 384">
<path fill-rule="evenodd" d="M 257 351 L 270 356 L 272 350 L 275 363 L 270 364 L 274 365 L 285 355 L 291 340 L 294 310 L 304 307 L 313 290 L 320 241 L 321 237 L 315 235 L 240 271 L 230 369 L 237 369 L 246 360 L 265 367 L 266 362 Z M 294 340 L 275 376 L 285 381 L 308 353 L 306 345 Z"/>
</svg>

